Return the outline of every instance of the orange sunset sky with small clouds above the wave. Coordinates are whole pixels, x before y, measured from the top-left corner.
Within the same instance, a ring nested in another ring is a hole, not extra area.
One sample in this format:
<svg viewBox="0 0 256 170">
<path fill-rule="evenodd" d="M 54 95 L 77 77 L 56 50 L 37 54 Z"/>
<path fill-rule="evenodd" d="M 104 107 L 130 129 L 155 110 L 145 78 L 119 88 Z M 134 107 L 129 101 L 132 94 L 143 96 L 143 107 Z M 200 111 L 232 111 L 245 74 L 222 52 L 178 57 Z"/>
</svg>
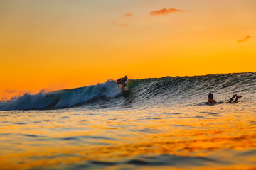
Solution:
<svg viewBox="0 0 256 170">
<path fill-rule="evenodd" d="M 1 0 L 0 99 L 118 79 L 256 72 L 255 0 Z"/>
</svg>

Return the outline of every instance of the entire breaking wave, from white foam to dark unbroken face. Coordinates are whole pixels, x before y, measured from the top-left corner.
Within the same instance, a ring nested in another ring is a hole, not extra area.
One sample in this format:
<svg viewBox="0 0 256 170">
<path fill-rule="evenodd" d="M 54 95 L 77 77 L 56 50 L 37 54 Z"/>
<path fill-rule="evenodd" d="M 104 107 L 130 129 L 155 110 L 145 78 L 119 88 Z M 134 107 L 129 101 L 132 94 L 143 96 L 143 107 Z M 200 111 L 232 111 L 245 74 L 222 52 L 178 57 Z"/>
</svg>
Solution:
<svg viewBox="0 0 256 170">
<path fill-rule="evenodd" d="M 133 79 L 127 86 L 129 96 L 126 97 L 121 95 L 114 80 L 76 89 L 24 94 L 1 101 L 0 110 L 186 106 L 204 103 L 210 92 L 217 101 L 225 102 L 232 94 L 244 96 L 241 100 L 255 100 L 256 73 Z"/>
</svg>

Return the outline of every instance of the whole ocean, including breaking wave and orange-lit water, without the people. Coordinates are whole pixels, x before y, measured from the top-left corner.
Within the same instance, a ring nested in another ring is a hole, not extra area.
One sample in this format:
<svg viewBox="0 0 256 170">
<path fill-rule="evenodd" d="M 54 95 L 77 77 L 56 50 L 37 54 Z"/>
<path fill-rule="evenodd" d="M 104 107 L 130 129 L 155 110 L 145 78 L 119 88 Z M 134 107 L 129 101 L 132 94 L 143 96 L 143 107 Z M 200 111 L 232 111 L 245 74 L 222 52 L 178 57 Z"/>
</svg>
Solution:
<svg viewBox="0 0 256 170">
<path fill-rule="evenodd" d="M 0 101 L 0 169 L 256 169 L 256 73 L 127 87 L 122 96 L 110 79 Z M 209 93 L 220 103 L 206 105 Z"/>
</svg>

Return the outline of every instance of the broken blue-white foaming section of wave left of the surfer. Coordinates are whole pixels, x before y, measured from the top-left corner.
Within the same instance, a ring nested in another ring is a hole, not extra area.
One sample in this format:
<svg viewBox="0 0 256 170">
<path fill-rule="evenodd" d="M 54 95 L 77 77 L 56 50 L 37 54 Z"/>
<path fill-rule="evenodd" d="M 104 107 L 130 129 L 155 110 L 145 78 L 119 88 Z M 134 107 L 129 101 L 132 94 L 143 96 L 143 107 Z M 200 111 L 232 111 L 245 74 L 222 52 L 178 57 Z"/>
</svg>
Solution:
<svg viewBox="0 0 256 170">
<path fill-rule="evenodd" d="M 108 80 L 102 84 L 76 89 L 49 93 L 42 90 L 38 94 L 24 94 L 11 98 L 9 101 L 1 101 L 0 111 L 67 108 L 81 105 L 95 98 L 114 98 L 119 94 L 121 94 L 121 89 L 117 87 L 114 80 Z"/>
</svg>

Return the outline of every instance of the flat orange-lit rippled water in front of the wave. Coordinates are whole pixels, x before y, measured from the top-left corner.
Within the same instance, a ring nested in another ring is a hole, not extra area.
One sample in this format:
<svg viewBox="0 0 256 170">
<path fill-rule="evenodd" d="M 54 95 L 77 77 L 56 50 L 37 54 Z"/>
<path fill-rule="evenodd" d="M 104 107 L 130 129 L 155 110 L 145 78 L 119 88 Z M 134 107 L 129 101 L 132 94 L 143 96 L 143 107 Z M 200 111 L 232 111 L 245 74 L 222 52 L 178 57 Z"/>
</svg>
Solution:
<svg viewBox="0 0 256 170">
<path fill-rule="evenodd" d="M 0 167 L 256 169 L 255 101 L 242 99 L 215 106 L 1 111 Z"/>
</svg>

